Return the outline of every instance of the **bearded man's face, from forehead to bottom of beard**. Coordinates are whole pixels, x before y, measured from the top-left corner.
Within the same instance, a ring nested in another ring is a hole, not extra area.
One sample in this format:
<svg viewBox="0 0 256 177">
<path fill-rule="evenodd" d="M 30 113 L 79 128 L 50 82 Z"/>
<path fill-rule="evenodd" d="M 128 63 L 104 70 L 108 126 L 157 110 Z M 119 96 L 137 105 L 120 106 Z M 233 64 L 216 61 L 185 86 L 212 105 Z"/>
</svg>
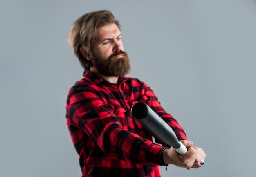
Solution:
<svg viewBox="0 0 256 177">
<path fill-rule="evenodd" d="M 97 29 L 92 50 L 92 63 L 100 74 L 120 77 L 130 71 L 130 60 L 124 52 L 121 31 L 111 23 Z"/>
</svg>

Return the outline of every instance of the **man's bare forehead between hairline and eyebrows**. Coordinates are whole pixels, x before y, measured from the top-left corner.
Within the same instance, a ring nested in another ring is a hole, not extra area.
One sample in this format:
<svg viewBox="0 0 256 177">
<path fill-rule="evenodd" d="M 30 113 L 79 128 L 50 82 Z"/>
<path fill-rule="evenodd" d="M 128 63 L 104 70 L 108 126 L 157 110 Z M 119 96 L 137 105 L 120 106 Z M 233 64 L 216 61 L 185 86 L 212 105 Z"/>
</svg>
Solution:
<svg viewBox="0 0 256 177">
<path fill-rule="evenodd" d="M 115 23 L 110 23 L 97 29 L 97 39 L 114 38 L 116 36 L 119 36 L 120 34 L 121 31 Z"/>
</svg>

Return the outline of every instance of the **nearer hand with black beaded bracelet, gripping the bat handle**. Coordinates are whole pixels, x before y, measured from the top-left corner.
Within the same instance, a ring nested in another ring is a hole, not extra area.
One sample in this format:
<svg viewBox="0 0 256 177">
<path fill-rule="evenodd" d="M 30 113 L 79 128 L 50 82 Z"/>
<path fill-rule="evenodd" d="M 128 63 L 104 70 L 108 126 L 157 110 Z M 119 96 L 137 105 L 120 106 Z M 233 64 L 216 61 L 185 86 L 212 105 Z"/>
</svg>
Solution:
<svg viewBox="0 0 256 177">
<path fill-rule="evenodd" d="M 190 169 L 193 166 L 197 167 L 198 162 L 195 163 L 195 161 L 200 158 L 200 155 L 198 156 L 198 149 L 196 150 L 194 147 L 192 147 L 192 141 L 182 140 L 182 143 L 184 146 L 186 146 L 186 148 L 188 148 L 188 152 L 185 155 L 180 155 L 174 150 L 173 147 L 171 147 L 163 152 L 164 162 L 166 164 L 173 164 L 187 169 Z"/>
</svg>

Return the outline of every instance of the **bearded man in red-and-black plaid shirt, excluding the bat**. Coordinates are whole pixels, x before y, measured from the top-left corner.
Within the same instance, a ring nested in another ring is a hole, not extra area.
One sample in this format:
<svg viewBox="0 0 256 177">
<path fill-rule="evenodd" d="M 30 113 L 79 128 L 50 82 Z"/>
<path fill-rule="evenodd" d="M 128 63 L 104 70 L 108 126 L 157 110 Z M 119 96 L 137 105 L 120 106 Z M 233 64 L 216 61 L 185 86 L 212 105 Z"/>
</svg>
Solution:
<svg viewBox="0 0 256 177">
<path fill-rule="evenodd" d="M 82 176 L 160 177 L 158 165 L 202 166 L 204 151 L 187 141 L 182 127 L 164 111 L 150 87 L 125 77 L 130 61 L 120 29 L 112 13 L 103 10 L 81 16 L 68 34 L 68 43 L 85 68 L 83 78 L 70 88 L 66 105 Z M 139 101 L 175 130 L 188 148 L 186 155 L 158 140 L 162 145 L 152 142 L 152 135 L 131 116 L 130 108 Z"/>
</svg>

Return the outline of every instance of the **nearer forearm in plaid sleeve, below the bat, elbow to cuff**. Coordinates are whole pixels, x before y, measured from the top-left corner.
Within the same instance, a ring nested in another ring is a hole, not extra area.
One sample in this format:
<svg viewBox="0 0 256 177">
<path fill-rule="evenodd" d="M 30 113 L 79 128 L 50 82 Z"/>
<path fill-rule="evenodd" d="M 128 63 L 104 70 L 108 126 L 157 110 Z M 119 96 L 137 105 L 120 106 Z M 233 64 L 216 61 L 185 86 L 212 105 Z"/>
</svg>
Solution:
<svg viewBox="0 0 256 177">
<path fill-rule="evenodd" d="M 137 134 L 111 126 L 105 132 L 103 142 L 106 153 L 112 158 L 135 164 L 159 164 L 158 153 L 162 146 Z"/>
</svg>

